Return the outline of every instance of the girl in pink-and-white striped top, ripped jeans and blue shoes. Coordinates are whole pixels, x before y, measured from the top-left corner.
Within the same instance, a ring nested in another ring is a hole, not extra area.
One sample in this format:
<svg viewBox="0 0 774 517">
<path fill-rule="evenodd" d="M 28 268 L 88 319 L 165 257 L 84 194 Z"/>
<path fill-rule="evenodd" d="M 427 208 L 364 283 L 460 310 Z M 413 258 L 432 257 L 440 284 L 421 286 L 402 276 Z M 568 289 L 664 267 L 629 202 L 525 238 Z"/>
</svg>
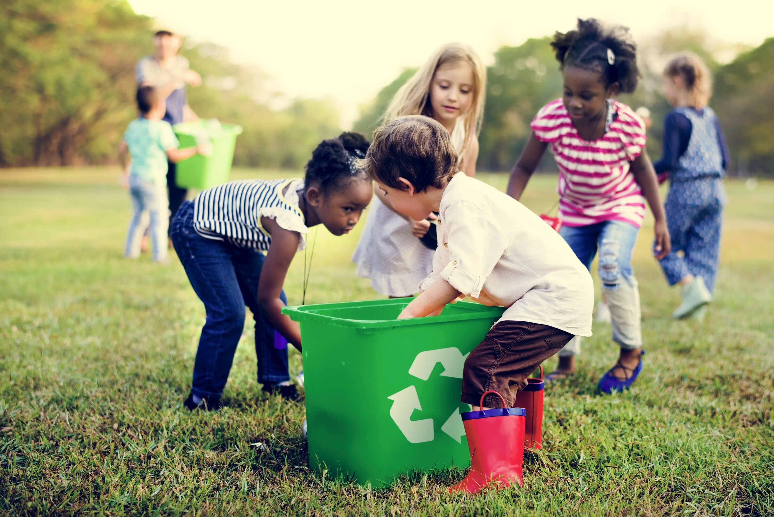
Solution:
<svg viewBox="0 0 774 517">
<path fill-rule="evenodd" d="M 598 386 L 607 393 L 622 391 L 642 370 L 639 290 L 631 258 L 646 199 L 655 219 L 653 253 L 662 259 L 670 251 L 656 173 L 645 151 L 644 124 L 614 99 L 637 86 L 636 47 L 628 29 L 605 28 L 595 19 L 579 19 L 577 29 L 557 33 L 551 47 L 560 62 L 563 96 L 535 116 L 508 193 L 521 197 L 546 147 L 550 149 L 559 167 L 560 234 L 586 267 L 599 252 L 602 292 L 610 307 L 613 340 L 621 348 Z M 567 343 L 550 378 L 574 373 L 579 351 L 580 338 Z"/>
</svg>

